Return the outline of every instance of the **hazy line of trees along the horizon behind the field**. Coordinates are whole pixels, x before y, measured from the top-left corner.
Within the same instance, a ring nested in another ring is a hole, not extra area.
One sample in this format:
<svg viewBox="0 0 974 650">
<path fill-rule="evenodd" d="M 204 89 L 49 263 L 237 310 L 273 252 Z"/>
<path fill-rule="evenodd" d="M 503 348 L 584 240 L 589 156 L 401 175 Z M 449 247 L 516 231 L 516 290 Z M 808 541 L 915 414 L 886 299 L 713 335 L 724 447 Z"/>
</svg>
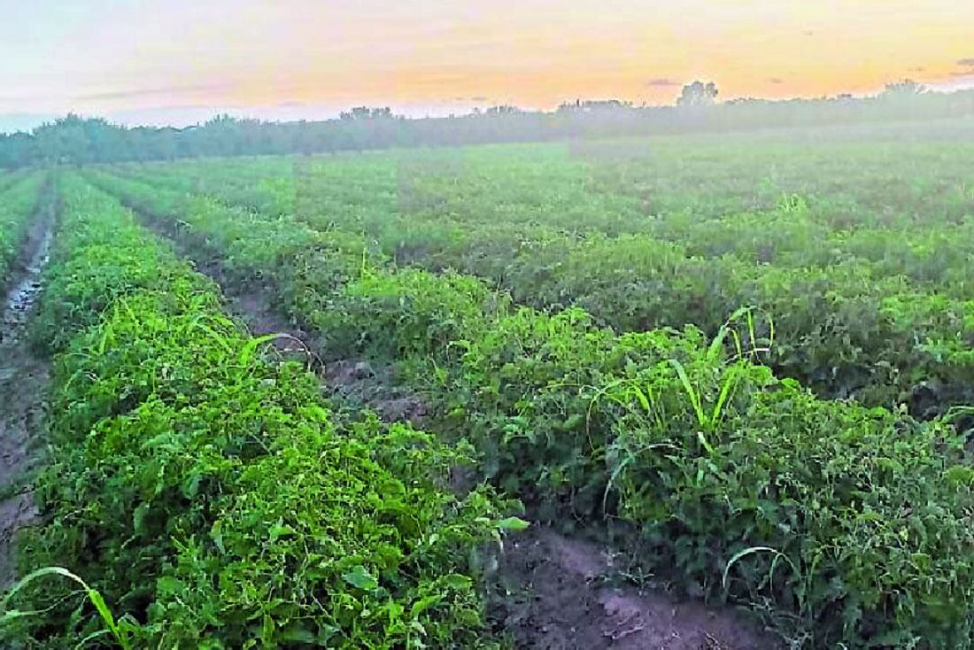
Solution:
<svg viewBox="0 0 974 650">
<path fill-rule="evenodd" d="M 126 128 L 68 115 L 31 133 L 0 135 L 0 168 L 87 165 L 206 156 L 318 154 L 390 147 L 545 141 L 576 137 L 686 134 L 974 116 L 974 91 L 929 93 L 906 80 L 878 96 L 735 99 L 717 103 L 715 85 L 693 82 L 676 106 L 618 99 L 578 100 L 554 111 L 495 106 L 470 115 L 408 119 L 388 107 L 359 106 L 338 119 L 264 122 L 218 116 L 205 124 Z"/>
</svg>

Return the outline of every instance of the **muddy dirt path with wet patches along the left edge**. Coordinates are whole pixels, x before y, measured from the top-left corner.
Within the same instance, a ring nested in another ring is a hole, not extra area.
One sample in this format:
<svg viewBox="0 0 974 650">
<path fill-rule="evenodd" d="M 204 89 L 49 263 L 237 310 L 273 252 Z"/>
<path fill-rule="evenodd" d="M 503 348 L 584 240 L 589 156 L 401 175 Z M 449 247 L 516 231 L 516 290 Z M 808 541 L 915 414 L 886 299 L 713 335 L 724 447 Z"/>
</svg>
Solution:
<svg viewBox="0 0 974 650">
<path fill-rule="evenodd" d="M 50 189 L 45 192 L 50 194 Z M 8 284 L 0 322 L 0 592 L 15 578 L 12 541 L 37 512 L 29 491 L 50 364 L 26 340 L 54 227 L 54 197 L 42 199 Z"/>
</svg>

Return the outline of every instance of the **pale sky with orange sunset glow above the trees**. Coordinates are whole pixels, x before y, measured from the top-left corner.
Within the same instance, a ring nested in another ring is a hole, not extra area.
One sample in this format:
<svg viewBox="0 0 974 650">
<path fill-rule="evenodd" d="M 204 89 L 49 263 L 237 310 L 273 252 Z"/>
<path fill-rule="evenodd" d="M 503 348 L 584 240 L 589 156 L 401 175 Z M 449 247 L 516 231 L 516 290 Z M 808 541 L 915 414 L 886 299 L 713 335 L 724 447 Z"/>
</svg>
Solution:
<svg viewBox="0 0 974 650">
<path fill-rule="evenodd" d="M 974 87 L 974 0 L 0 0 L 0 131 Z"/>
</svg>

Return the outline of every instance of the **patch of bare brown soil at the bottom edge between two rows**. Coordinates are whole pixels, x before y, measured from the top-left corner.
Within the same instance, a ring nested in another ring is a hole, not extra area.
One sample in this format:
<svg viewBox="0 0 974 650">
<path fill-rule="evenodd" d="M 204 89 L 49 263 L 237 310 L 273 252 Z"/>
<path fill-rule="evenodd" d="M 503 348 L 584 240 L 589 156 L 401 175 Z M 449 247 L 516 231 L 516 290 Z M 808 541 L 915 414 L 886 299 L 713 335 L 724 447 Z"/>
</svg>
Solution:
<svg viewBox="0 0 974 650">
<path fill-rule="evenodd" d="M 506 546 L 494 615 L 519 648 L 543 650 L 761 650 L 781 648 L 731 609 L 680 602 L 661 591 L 613 586 L 618 568 L 597 544 L 551 529 Z"/>
</svg>

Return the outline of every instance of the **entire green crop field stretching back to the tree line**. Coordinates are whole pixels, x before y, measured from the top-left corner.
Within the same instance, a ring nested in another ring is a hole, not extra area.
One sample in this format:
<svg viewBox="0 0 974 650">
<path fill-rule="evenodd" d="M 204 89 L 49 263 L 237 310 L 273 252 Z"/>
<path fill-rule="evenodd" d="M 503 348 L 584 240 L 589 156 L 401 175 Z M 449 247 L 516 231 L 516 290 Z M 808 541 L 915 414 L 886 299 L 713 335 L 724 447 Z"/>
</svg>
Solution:
<svg viewBox="0 0 974 650">
<path fill-rule="evenodd" d="M 506 647 L 530 522 L 782 647 L 971 647 L 972 134 L 0 176 L 0 275 L 57 207 L 19 574 L 93 590 L 28 579 L 0 644 Z"/>
</svg>

